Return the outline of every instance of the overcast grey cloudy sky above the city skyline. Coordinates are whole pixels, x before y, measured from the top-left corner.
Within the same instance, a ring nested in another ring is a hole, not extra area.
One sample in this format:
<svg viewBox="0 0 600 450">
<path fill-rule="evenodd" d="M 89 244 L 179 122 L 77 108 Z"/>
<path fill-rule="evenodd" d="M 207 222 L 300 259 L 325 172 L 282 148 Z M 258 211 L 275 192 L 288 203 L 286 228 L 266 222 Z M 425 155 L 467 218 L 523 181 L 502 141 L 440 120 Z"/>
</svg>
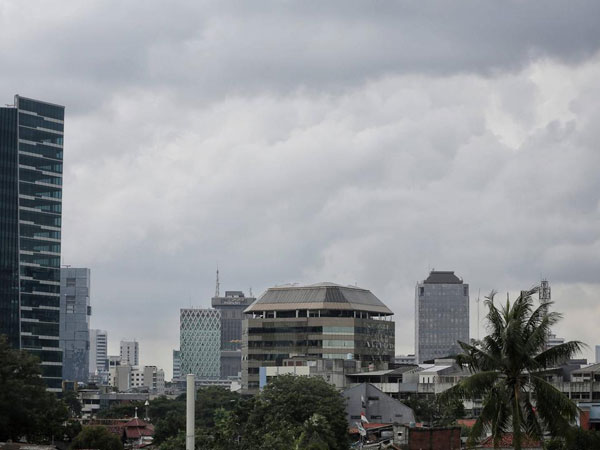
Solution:
<svg viewBox="0 0 600 450">
<path fill-rule="evenodd" d="M 600 344 L 600 2 L 0 0 L 0 101 L 66 106 L 63 264 L 171 377 L 215 293 L 370 289 L 414 346 L 432 269 Z"/>
</svg>

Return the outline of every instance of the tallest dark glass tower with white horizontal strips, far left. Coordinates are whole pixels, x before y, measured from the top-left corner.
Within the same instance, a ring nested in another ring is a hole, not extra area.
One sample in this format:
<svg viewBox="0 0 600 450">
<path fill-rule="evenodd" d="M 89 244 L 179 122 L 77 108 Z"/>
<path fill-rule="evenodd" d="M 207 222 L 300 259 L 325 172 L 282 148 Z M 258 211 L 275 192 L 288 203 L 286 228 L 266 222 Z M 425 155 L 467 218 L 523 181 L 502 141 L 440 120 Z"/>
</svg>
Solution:
<svg viewBox="0 0 600 450">
<path fill-rule="evenodd" d="M 0 334 L 60 391 L 64 106 L 16 95 L 0 108 Z"/>
</svg>

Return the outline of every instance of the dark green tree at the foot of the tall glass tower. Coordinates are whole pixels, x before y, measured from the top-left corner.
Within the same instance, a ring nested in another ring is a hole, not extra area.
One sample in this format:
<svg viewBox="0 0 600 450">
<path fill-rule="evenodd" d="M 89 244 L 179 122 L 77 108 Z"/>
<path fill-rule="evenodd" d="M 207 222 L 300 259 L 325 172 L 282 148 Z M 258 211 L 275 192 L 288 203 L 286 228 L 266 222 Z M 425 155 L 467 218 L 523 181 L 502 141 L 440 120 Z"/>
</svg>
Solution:
<svg viewBox="0 0 600 450">
<path fill-rule="evenodd" d="M 62 436 L 67 418 L 64 403 L 46 391 L 39 360 L 0 336 L 0 441 L 48 442 Z"/>
</svg>

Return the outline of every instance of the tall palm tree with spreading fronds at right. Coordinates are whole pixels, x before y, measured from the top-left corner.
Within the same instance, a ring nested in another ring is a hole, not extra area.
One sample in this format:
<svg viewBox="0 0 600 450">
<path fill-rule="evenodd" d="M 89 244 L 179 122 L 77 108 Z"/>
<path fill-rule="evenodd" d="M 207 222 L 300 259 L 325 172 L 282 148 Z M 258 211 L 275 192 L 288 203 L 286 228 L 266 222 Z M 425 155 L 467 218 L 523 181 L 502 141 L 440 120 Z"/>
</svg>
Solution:
<svg viewBox="0 0 600 450">
<path fill-rule="evenodd" d="M 534 308 L 532 296 L 537 291 L 537 287 L 521 291 L 512 305 L 507 298 L 500 308 L 492 291 L 485 301 L 489 335 L 471 344 L 459 342 L 464 353 L 456 361 L 472 375 L 446 391 L 442 399 L 483 399 L 469 446 L 486 431 L 491 432 L 495 445 L 512 431 L 514 448 L 520 450 L 523 436 L 541 440 L 545 430 L 561 435 L 575 420 L 577 406 L 546 381 L 544 373 L 579 353 L 584 344 L 570 341 L 546 348 L 550 328 L 562 316 L 550 312 L 550 301 Z"/>
</svg>

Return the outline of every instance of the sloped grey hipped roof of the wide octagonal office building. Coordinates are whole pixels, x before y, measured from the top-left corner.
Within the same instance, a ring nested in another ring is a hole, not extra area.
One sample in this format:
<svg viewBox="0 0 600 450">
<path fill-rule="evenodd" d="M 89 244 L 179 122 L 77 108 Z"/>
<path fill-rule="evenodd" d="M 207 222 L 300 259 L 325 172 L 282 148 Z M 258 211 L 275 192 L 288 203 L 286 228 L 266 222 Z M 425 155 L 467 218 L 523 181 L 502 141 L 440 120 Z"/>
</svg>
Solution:
<svg viewBox="0 0 600 450">
<path fill-rule="evenodd" d="M 393 314 L 368 289 L 335 283 L 275 286 L 267 289 L 245 312 L 293 309 L 357 310 L 384 316 Z"/>
</svg>

